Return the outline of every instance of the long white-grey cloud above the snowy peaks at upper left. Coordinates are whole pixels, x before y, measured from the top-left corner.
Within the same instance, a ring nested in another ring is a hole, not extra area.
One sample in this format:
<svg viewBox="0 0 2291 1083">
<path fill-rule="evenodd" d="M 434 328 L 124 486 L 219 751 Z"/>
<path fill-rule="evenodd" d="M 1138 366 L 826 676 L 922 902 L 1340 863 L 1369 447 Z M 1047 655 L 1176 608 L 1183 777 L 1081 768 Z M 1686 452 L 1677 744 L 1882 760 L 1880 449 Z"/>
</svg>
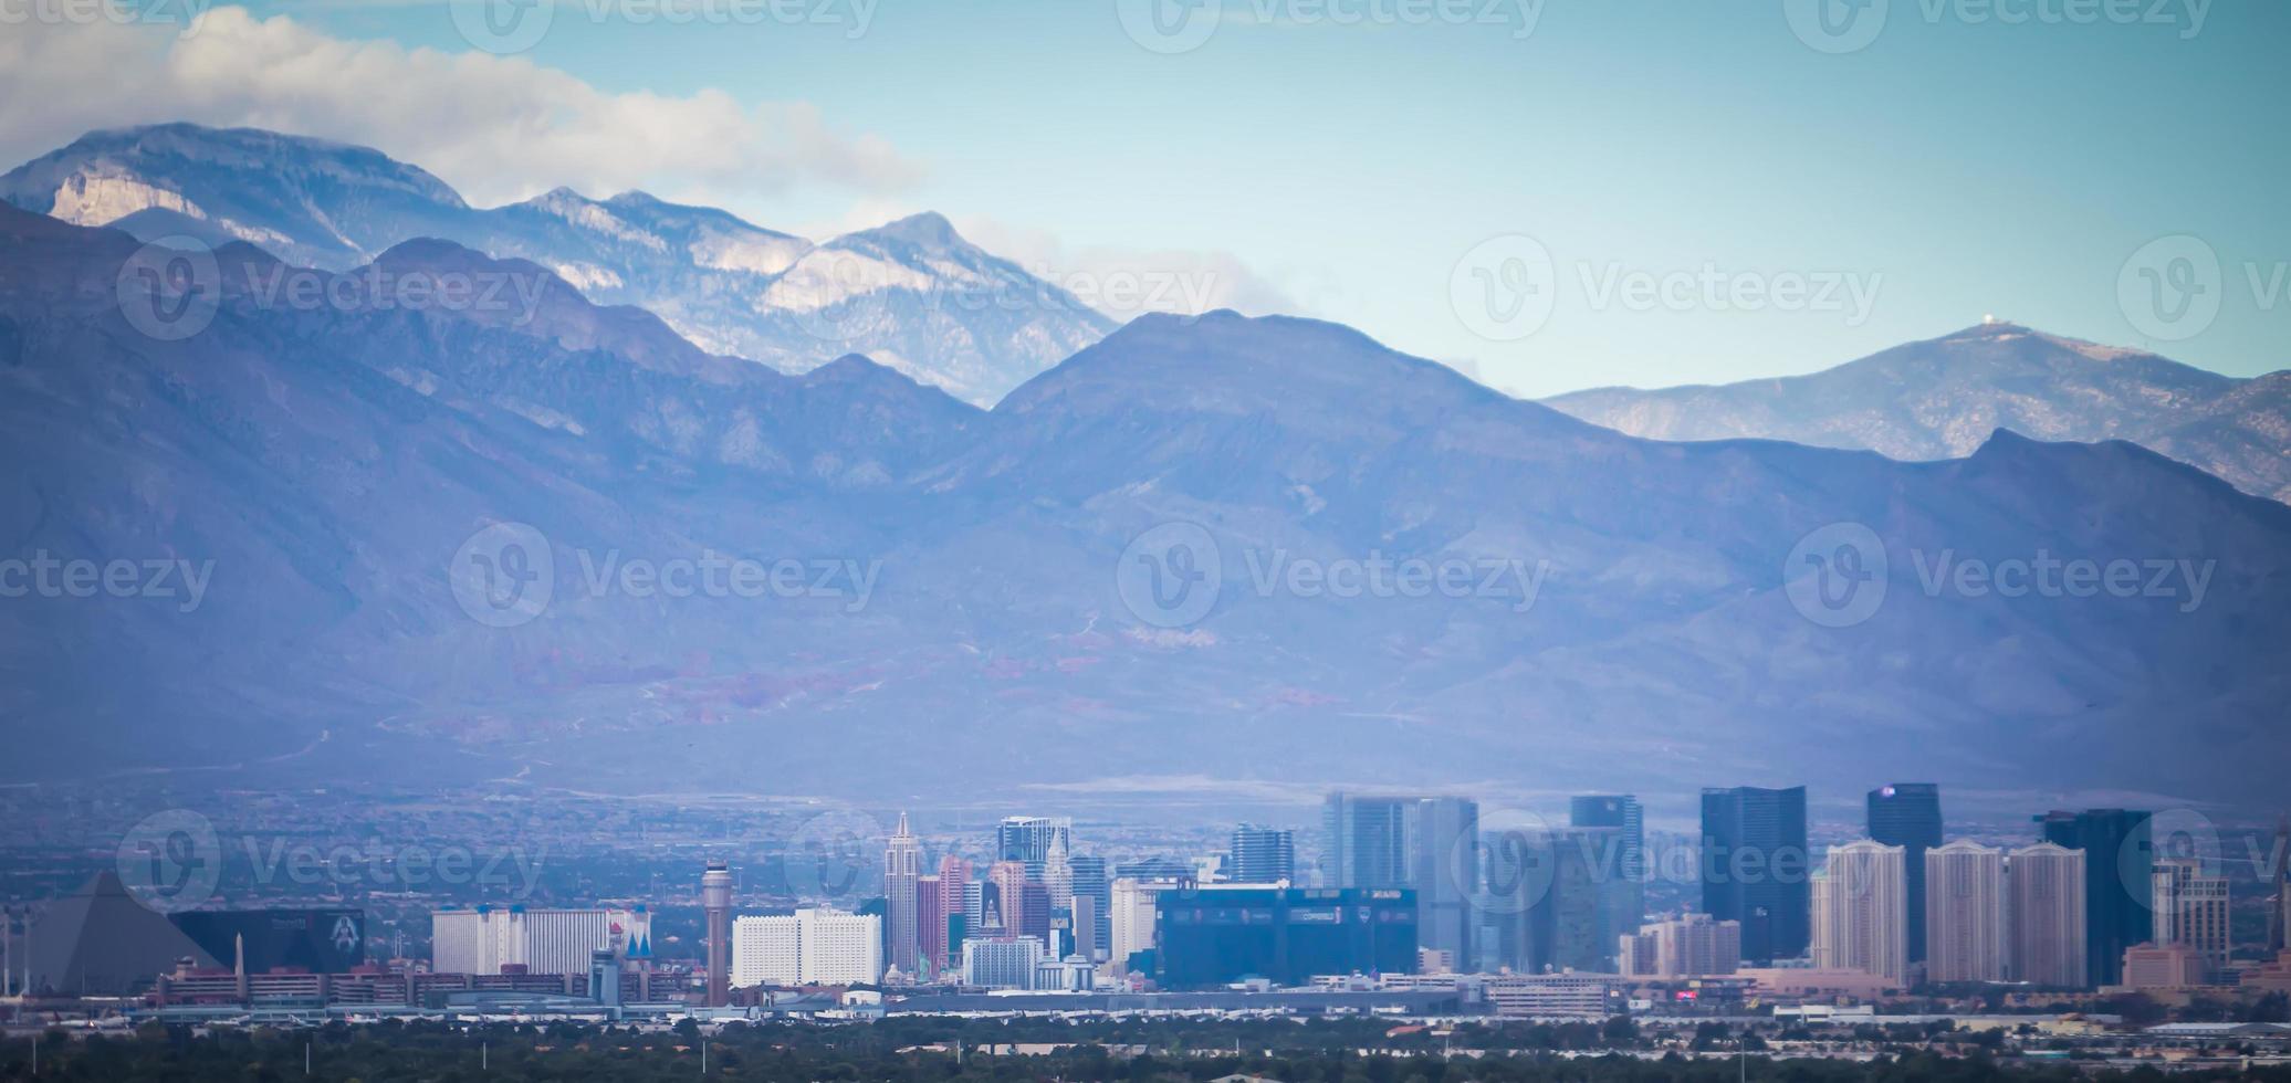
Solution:
<svg viewBox="0 0 2291 1083">
<path fill-rule="evenodd" d="M 715 89 L 607 94 L 522 57 L 344 41 L 241 7 L 206 11 L 188 32 L 32 21 L 0 34 L 7 163 L 89 128 L 156 121 L 373 147 L 479 206 L 557 185 L 678 197 L 793 185 L 887 192 L 919 174 L 884 140 L 839 133 L 809 103 L 742 103 Z"/>
</svg>

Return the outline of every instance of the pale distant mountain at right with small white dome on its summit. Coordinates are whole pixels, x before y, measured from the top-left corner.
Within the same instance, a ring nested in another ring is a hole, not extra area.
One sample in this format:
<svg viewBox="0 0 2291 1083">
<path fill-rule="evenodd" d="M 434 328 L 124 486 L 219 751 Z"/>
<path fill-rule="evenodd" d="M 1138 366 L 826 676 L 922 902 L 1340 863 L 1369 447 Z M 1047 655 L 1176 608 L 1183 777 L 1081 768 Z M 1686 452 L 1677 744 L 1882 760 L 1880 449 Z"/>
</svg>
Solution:
<svg viewBox="0 0 2291 1083">
<path fill-rule="evenodd" d="M 1592 424 L 1654 440 L 1769 437 L 1931 460 L 1989 433 L 2131 440 L 2236 488 L 2291 501 L 2291 373 L 2259 380 L 2165 357 L 1986 323 L 1812 376 L 1546 398 Z"/>
</svg>

